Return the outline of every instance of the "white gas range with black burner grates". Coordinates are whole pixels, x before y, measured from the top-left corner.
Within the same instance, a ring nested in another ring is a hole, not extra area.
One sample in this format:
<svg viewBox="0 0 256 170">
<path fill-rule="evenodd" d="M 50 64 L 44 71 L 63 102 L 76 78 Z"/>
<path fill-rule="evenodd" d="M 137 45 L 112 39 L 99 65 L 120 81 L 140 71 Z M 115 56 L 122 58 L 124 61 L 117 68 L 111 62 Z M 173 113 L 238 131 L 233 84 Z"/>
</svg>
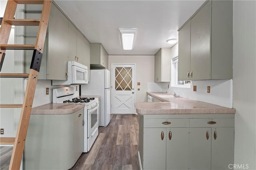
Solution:
<svg viewBox="0 0 256 170">
<path fill-rule="evenodd" d="M 84 152 L 89 152 L 98 136 L 99 100 L 98 98 L 77 98 L 75 88 L 52 89 L 52 103 L 84 103 Z"/>
</svg>

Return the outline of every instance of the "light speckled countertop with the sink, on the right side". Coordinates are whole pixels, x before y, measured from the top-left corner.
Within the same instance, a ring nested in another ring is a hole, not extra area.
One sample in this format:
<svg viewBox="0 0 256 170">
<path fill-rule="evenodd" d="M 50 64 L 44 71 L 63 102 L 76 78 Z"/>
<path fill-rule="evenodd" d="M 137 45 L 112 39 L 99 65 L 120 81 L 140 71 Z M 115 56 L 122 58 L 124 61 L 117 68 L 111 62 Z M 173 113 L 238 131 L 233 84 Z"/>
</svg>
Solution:
<svg viewBox="0 0 256 170">
<path fill-rule="evenodd" d="M 159 96 L 170 95 L 161 92 L 147 92 L 150 96 L 163 102 L 137 102 L 135 103 L 138 114 L 214 114 L 231 113 L 236 109 L 200 102 L 188 98 L 161 98 Z"/>
</svg>

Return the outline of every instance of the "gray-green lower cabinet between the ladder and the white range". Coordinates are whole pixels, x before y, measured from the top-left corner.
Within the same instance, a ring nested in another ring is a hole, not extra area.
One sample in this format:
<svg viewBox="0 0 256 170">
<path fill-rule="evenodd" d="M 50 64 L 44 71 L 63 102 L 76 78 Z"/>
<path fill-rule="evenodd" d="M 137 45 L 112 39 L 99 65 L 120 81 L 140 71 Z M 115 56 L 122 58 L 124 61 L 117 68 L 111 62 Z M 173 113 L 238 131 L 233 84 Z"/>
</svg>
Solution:
<svg viewBox="0 0 256 170">
<path fill-rule="evenodd" d="M 24 148 L 24 169 L 64 170 L 84 150 L 84 108 L 71 114 L 33 114 Z"/>
</svg>

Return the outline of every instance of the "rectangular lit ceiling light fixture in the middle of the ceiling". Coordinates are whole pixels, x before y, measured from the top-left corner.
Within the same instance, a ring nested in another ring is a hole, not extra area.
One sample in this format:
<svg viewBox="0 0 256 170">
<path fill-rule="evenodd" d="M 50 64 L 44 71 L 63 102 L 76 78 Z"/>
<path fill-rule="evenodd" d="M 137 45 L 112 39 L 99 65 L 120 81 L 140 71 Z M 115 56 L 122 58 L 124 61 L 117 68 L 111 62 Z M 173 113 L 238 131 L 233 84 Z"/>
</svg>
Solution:
<svg viewBox="0 0 256 170">
<path fill-rule="evenodd" d="M 120 42 L 124 50 L 131 50 L 137 36 L 137 28 L 119 28 Z"/>
</svg>

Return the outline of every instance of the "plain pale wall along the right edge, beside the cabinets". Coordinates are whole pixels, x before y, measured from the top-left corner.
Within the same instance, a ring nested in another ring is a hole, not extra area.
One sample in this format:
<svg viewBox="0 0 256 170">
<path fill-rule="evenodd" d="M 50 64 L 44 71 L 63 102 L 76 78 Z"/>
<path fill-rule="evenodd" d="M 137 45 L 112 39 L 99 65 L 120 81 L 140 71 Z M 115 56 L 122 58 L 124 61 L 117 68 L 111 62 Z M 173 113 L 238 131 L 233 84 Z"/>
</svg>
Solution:
<svg viewBox="0 0 256 170">
<path fill-rule="evenodd" d="M 256 1 L 233 2 L 234 163 L 256 169 Z"/>
</svg>

